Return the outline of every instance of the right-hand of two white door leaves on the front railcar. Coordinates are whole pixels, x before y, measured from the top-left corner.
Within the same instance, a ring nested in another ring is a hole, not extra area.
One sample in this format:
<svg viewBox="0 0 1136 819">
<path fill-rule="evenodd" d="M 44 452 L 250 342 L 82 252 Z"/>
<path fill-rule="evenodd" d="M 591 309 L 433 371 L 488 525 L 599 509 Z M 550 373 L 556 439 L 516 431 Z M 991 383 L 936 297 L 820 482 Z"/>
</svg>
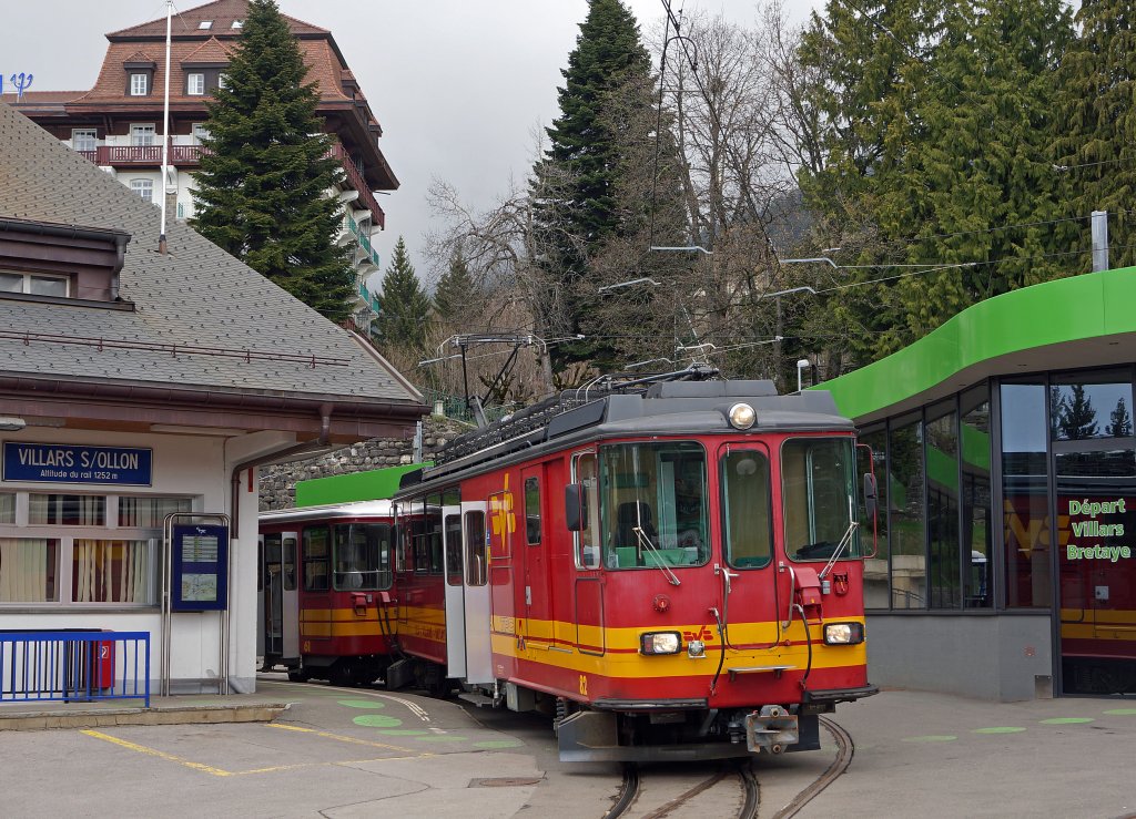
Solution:
<svg viewBox="0 0 1136 819">
<path fill-rule="evenodd" d="M 485 501 L 461 504 L 465 544 L 466 682 L 492 683 L 493 644 L 490 603 L 490 530 Z"/>
</svg>

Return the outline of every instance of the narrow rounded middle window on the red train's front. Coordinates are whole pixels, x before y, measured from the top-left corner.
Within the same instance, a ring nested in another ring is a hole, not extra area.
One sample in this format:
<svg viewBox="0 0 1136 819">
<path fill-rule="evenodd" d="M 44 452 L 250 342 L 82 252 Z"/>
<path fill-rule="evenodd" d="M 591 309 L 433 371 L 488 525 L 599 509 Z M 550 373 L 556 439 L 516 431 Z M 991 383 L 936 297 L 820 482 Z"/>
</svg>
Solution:
<svg viewBox="0 0 1136 819">
<path fill-rule="evenodd" d="M 735 568 L 760 568 L 772 559 L 769 458 L 757 449 L 735 449 L 721 459 L 721 517 L 726 560 Z"/>
</svg>

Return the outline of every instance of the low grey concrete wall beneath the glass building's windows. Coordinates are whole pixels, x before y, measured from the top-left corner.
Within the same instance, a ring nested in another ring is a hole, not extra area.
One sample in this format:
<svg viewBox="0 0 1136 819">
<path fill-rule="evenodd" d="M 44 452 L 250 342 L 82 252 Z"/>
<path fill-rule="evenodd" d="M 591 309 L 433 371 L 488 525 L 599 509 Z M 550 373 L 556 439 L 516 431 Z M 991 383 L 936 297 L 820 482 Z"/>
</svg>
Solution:
<svg viewBox="0 0 1136 819">
<path fill-rule="evenodd" d="M 882 687 L 1012 702 L 1052 695 L 1046 613 L 868 614 L 868 678 Z"/>
</svg>

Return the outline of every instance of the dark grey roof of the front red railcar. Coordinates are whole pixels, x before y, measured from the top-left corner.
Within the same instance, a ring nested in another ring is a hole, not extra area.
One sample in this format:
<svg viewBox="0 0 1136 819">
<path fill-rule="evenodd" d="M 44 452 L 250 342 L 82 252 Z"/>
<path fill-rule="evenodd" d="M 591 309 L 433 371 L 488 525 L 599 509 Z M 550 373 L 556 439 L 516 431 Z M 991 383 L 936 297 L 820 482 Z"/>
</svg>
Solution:
<svg viewBox="0 0 1136 819">
<path fill-rule="evenodd" d="M 757 414 L 753 427 L 744 431 L 729 423 L 729 410 L 740 403 L 749 404 Z M 765 380 L 663 381 L 609 391 L 568 390 L 456 438 L 435 457 L 436 466 L 404 475 L 402 487 L 586 440 L 853 429 L 828 392 L 778 395 L 772 381 Z"/>
</svg>

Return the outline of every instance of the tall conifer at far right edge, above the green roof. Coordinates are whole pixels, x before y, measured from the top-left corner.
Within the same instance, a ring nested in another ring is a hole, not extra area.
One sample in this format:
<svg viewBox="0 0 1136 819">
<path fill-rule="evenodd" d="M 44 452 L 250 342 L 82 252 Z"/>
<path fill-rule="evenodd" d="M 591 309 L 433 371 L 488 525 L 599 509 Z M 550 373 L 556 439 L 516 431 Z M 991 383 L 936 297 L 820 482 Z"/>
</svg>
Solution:
<svg viewBox="0 0 1136 819">
<path fill-rule="evenodd" d="M 1079 35 L 1061 62 L 1061 130 L 1054 162 L 1072 188 L 1066 216 L 1109 212 L 1109 264 L 1136 264 L 1136 12 L 1124 0 L 1084 0 Z M 1091 246 L 1087 221 L 1077 243 Z M 1088 255 L 1077 260 L 1088 269 Z"/>
</svg>

